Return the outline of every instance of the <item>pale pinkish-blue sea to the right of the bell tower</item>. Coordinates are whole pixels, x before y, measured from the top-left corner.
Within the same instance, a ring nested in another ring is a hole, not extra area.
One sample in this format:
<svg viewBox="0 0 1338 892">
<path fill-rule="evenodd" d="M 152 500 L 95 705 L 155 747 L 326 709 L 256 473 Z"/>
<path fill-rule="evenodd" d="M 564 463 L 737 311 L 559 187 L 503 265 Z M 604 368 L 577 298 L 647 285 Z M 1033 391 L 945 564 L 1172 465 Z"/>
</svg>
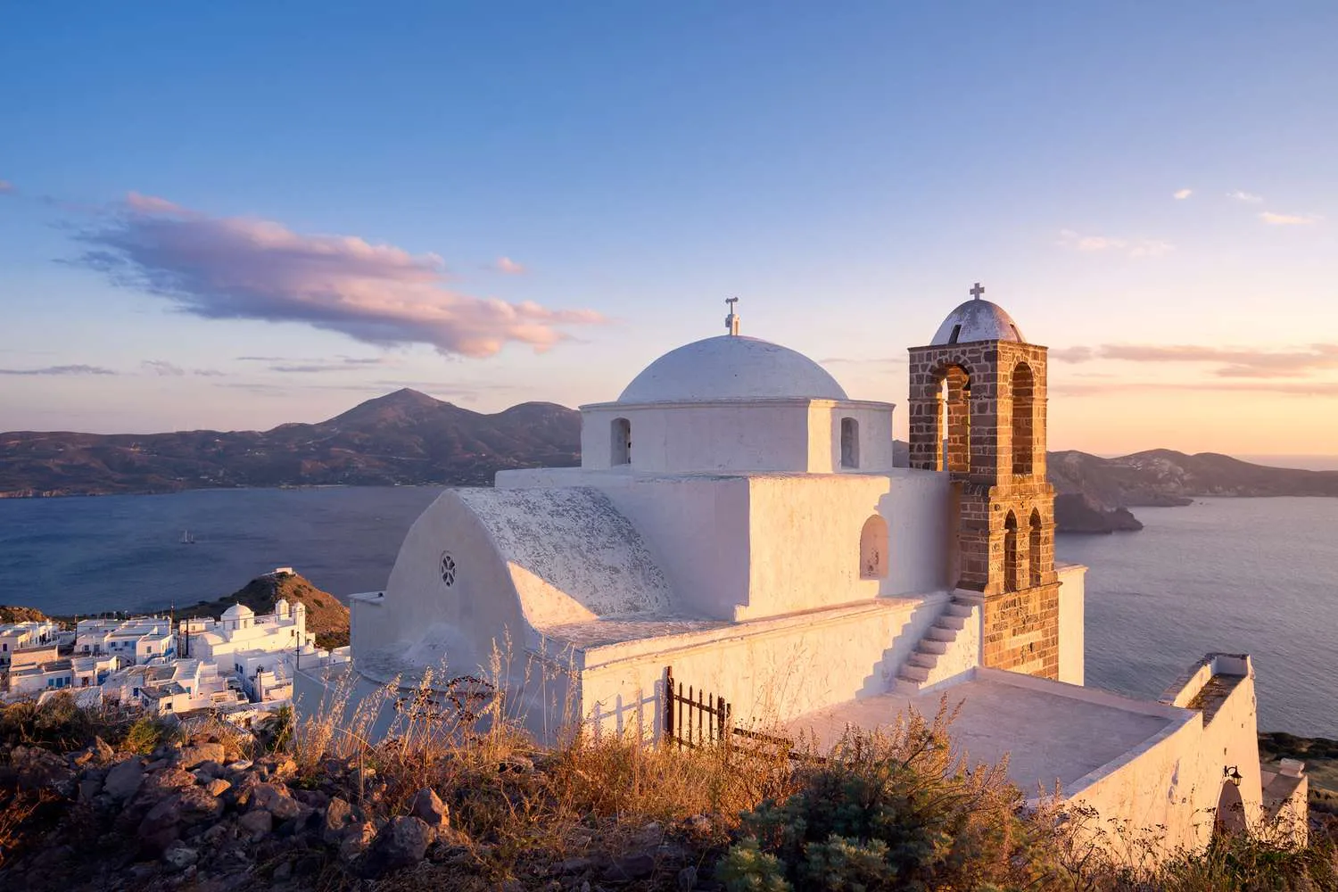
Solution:
<svg viewBox="0 0 1338 892">
<path fill-rule="evenodd" d="M 1139 508 L 1141 532 L 1060 536 L 1086 576 L 1086 683 L 1160 695 L 1206 653 L 1254 655 L 1259 726 L 1338 737 L 1338 499 Z"/>
</svg>

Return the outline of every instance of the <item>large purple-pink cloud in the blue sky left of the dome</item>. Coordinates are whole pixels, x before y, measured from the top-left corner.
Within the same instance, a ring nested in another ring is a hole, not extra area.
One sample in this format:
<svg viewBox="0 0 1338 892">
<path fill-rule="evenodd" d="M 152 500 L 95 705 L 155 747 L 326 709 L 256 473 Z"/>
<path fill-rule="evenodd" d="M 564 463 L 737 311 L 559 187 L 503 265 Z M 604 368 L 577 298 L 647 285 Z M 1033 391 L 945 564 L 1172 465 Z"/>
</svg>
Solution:
<svg viewBox="0 0 1338 892">
<path fill-rule="evenodd" d="M 462 294 L 436 254 L 411 254 L 355 235 L 309 235 L 270 221 L 217 218 L 131 194 L 83 230 L 75 262 L 114 284 L 213 320 L 298 322 L 377 346 L 428 344 L 491 356 L 508 342 L 537 350 L 594 325 L 593 310 L 557 310 Z"/>
</svg>

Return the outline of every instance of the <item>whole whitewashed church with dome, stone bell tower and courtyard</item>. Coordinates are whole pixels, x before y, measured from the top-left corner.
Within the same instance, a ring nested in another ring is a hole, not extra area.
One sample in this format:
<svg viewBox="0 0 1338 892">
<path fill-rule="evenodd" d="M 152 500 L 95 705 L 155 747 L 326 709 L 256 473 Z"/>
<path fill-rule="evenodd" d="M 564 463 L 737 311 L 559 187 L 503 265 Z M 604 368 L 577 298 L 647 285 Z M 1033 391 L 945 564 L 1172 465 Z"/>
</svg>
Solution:
<svg viewBox="0 0 1338 892">
<path fill-rule="evenodd" d="M 429 673 L 440 709 L 500 697 L 539 741 L 574 722 L 664 738 L 682 734 L 686 683 L 719 705 L 712 725 L 830 745 L 946 697 L 973 760 L 1008 756 L 1033 797 L 1159 828 L 1159 851 L 1298 804 L 1303 833 L 1302 766 L 1259 764 L 1248 655 L 1210 654 L 1157 701 L 1084 686 L 1086 567 L 1054 559 L 1046 348 L 982 292 L 910 348 L 902 461 L 892 404 L 741 334 L 731 302 L 724 334 L 581 407 L 581 467 L 442 493 L 385 590 L 351 596 L 352 665 L 298 673 L 300 709 Z M 388 702 L 375 734 L 408 709 Z"/>
</svg>

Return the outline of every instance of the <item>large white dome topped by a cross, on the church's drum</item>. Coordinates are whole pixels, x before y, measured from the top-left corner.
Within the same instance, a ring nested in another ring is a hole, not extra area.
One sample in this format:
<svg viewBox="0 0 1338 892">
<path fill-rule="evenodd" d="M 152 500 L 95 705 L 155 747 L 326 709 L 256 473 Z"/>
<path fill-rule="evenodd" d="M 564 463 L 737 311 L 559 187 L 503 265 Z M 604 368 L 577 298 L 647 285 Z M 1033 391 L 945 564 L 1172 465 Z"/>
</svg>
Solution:
<svg viewBox="0 0 1338 892">
<path fill-rule="evenodd" d="M 669 350 L 632 380 L 618 403 L 846 400 L 823 366 L 789 348 L 721 334 Z"/>
</svg>

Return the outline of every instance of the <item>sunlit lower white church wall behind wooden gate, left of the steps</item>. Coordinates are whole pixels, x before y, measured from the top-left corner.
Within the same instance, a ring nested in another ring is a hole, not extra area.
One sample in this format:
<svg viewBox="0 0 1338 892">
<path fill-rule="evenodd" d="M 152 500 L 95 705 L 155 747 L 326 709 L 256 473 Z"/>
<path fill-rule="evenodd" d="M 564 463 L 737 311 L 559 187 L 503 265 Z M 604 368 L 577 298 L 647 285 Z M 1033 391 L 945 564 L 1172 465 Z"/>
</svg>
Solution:
<svg viewBox="0 0 1338 892">
<path fill-rule="evenodd" d="M 741 728 L 780 726 L 814 710 L 886 694 L 946 599 L 878 600 L 827 617 L 757 621 L 709 642 L 660 642 L 652 653 L 587 665 L 582 711 L 605 732 L 640 722 L 648 736 L 657 734 L 665 666 L 673 666 L 684 686 L 724 697 Z"/>
</svg>

